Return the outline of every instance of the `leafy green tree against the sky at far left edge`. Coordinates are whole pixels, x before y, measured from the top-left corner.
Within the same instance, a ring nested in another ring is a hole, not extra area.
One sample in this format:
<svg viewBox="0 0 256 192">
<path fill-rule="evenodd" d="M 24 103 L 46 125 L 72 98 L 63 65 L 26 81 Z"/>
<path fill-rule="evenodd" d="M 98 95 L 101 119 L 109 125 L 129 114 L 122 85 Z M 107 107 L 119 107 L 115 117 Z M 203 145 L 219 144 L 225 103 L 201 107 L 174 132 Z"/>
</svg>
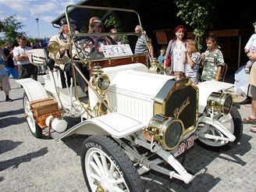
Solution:
<svg viewBox="0 0 256 192">
<path fill-rule="evenodd" d="M 2 41 L 16 41 L 16 37 L 20 34 L 25 34 L 22 30 L 23 24 L 16 20 L 16 15 L 8 16 L 4 20 L 0 20 L 0 32 L 4 34 Z"/>
</svg>

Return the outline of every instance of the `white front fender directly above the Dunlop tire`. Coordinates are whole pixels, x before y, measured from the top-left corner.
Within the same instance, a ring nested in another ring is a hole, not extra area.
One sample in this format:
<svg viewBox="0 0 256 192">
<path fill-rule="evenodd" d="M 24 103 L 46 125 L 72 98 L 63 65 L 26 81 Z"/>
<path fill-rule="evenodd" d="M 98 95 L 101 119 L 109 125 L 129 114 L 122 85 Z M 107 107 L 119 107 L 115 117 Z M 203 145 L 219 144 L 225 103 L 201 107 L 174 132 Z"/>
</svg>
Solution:
<svg viewBox="0 0 256 192">
<path fill-rule="evenodd" d="M 145 126 L 144 123 L 141 123 L 136 119 L 132 119 L 118 112 L 112 112 L 105 116 L 87 119 L 76 124 L 57 137 L 56 140 L 59 141 L 63 137 L 73 135 L 74 133 L 83 135 L 104 134 L 122 138 L 130 135 L 130 133 L 142 130 Z"/>
</svg>

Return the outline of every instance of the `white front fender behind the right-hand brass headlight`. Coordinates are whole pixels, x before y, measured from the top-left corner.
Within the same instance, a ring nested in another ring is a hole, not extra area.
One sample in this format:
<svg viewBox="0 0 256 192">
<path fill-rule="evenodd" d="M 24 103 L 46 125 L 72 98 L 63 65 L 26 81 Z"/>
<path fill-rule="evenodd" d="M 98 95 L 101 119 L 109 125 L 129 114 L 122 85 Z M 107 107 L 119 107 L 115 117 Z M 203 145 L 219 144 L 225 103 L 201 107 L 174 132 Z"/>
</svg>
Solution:
<svg viewBox="0 0 256 192">
<path fill-rule="evenodd" d="M 212 92 L 218 92 L 221 90 L 227 91 L 233 86 L 233 84 L 215 80 L 208 80 L 197 84 L 197 87 L 199 88 L 198 112 L 204 112 L 204 108 L 207 105 L 207 99 Z"/>
</svg>

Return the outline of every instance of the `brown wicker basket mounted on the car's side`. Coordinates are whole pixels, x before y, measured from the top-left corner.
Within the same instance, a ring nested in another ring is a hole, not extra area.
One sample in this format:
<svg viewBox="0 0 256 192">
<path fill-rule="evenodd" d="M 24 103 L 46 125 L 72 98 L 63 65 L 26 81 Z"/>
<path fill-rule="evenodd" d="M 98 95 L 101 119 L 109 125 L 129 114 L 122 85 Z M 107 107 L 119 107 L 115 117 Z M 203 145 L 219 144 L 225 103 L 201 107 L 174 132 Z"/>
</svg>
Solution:
<svg viewBox="0 0 256 192">
<path fill-rule="evenodd" d="M 34 117 L 44 116 L 52 112 L 58 112 L 59 106 L 57 101 L 52 98 L 44 98 L 35 101 L 30 101 L 31 111 Z"/>
</svg>

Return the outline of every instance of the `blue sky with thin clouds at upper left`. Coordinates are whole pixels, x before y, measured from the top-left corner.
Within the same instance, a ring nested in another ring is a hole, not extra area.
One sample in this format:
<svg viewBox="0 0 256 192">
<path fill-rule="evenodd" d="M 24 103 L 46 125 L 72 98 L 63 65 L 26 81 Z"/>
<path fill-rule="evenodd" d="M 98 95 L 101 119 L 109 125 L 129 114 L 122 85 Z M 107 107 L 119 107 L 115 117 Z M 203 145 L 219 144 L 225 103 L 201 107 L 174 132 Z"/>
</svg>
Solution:
<svg viewBox="0 0 256 192">
<path fill-rule="evenodd" d="M 51 37 L 58 33 L 52 27 L 52 20 L 65 12 L 66 5 L 76 4 L 80 0 L 0 0 L 0 20 L 16 15 L 16 20 L 23 23 L 27 37 Z"/>
</svg>

